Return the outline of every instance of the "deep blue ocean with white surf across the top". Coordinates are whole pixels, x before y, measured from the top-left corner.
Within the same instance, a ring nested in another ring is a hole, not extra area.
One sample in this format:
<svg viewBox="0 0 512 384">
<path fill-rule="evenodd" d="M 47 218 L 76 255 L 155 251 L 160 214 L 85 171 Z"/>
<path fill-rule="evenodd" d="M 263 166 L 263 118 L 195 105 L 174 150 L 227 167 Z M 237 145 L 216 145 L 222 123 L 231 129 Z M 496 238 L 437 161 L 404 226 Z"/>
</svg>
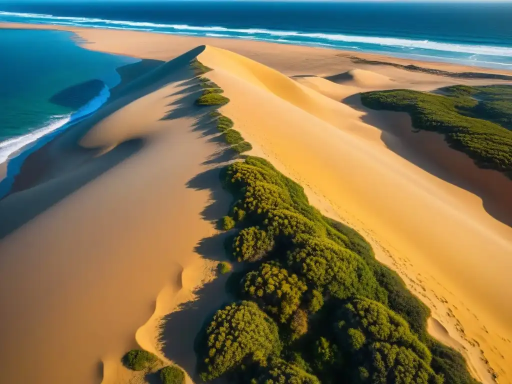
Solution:
<svg viewBox="0 0 512 384">
<path fill-rule="evenodd" d="M 8 0 L 7 0 L 8 1 Z M 512 69 L 512 3 L 0 3 L 0 21 L 263 40 Z"/>
</svg>

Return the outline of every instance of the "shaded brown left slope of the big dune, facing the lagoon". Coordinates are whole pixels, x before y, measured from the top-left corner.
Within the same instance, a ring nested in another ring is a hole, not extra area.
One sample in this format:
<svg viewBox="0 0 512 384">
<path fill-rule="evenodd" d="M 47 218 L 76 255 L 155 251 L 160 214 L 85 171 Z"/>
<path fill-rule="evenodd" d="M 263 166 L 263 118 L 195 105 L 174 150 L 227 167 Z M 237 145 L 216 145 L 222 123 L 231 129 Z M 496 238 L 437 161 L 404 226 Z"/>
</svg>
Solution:
<svg viewBox="0 0 512 384">
<path fill-rule="evenodd" d="M 123 382 L 120 357 L 156 346 L 152 314 L 193 298 L 224 257 L 208 240 L 228 206 L 221 147 L 195 127 L 193 57 L 34 153 L 20 175 L 27 189 L 0 201 L 3 382 Z M 211 289 L 181 321 L 190 346 L 224 300 L 221 285 Z M 191 347 L 173 342 L 165 356 L 194 372 Z"/>
</svg>

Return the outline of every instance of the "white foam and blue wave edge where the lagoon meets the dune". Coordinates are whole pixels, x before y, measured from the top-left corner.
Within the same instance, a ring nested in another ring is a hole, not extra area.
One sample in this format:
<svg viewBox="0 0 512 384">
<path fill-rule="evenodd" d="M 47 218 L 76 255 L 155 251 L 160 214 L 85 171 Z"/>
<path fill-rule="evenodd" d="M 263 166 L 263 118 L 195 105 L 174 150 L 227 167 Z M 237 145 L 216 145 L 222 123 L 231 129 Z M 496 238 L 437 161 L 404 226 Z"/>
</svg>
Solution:
<svg viewBox="0 0 512 384">
<path fill-rule="evenodd" d="M 23 162 L 34 151 L 53 139 L 58 133 L 72 124 L 96 112 L 110 97 L 109 87 L 104 86 L 100 93 L 83 105 L 76 112 L 69 115 L 56 115 L 50 118 L 44 127 L 23 136 L 13 137 L 0 142 L 0 163 L 8 160 L 7 175 L 0 181 L 0 199 L 12 187 L 14 177 L 19 174 Z M 13 156 L 14 155 L 14 156 Z"/>
</svg>

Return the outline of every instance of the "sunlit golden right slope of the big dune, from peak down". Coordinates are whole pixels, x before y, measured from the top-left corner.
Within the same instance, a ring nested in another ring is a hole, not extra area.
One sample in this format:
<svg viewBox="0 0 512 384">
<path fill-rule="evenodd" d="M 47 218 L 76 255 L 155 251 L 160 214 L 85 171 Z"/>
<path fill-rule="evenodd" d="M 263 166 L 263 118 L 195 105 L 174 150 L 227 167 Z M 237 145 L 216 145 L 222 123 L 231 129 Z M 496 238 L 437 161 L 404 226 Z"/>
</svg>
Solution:
<svg viewBox="0 0 512 384">
<path fill-rule="evenodd" d="M 331 99 L 231 52 L 208 47 L 199 59 L 215 69 L 209 76 L 231 99 L 226 114 L 255 152 L 377 245 L 381 260 L 406 276 L 447 334 L 467 348 L 477 377 L 492 381 L 486 358 L 500 382 L 510 382 L 512 229 L 475 195 L 378 145 L 375 128 L 361 122 L 364 113 L 339 104 L 342 118 L 332 119 L 325 112 Z M 304 94 L 307 109 L 297 101 Z M 510 182 L 504 185 L 510 191 Z"/>
</svg>

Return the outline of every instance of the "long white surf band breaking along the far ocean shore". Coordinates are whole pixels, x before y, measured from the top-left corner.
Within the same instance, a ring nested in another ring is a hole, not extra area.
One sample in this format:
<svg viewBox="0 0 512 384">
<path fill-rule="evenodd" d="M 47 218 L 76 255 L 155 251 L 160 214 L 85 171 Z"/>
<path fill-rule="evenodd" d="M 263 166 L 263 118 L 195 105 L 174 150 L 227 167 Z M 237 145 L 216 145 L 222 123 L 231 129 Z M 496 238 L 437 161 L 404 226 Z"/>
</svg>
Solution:
<svg viewBox="0 0 512 384">
<path fill-rule="evenodd" d="M 332 33 L 304 33 L 297 31 L 279 31 L 279 30 L 269 30 L 269 29 L 259 29 L 259 28 L 225 28 L 225 27 L 217 27 L 217 26 L 208 26 L 208 27 L 200 27 L 200 26 L 189 26 L 182 24 L 158 24 L 158 23 L 149 23 L 149 22 L 130 22 L 125 20 L 109 20 L 109 19 L 99 19 L 99 18 L 87 18 L 87 17 L 66 17 L 66 16 L 52 16 L 47 14 L 36 14 L 36 13 L 17 13 L 17 12 L 3 12 L 0 11 L 0 17 L 4 16 L 4 18 L 9 17 L 24 17 L 35 19 L 32 21 L 36 21 L 39 23 L 70 23 L 74 26 L 87 26 L 87 27 L 95 27 L 95 28 L 111 28 L 114 26 L 121 26 L 117 28 L 121 29 L 139 29 L 144 28 L 144 30 L 154 31 L 154 32 L 170 32 L 170 33 L 191 33 L 195 32 L 205 32 L 205 33 L 215 33 L 220 32 L 219 34 L 226 33 L 238 33 L 241 36 L 237 35 L 226 35 L 226 37 L 244 37 L 244 35 L 267 35 L 267 36 L 279 36 L 281 41 L 289 41 L 285 40 L 287 37 L 298 39 L 293 40 L 293 42 L 301 42 L 300 39 L 305 39 L 304 42 L 311 42 L 309 39 L 319 39 L 324 40 L 325 42 L 352 42 L 359 44 L 370 44 L 370 45 L 378 45 L 378 46 L 388 46 L 388 47 L 399 47 L 403 49 L 426 49 L 426 50 L 435 50 L 435 51 L 443 51 L 443 52 L 457 52 L 457 53 L 468 53 L 468 54 L 478 54 L 478 55 L 489 55 L 489 56 L 512 56 L 512 48 L 510 47 L 498 47 L 498 46 L 485 46 L 485 45 L 469 45 L 469 44 L 450 44 L 446 42 L 438 42 L 438 41 L 430 41 L 430 40 L 413 40 L 413 39 L 405 39 L 405 38 L 394 38 L 394 37 L 372 37 L 372 36 L 355 36 L 355 35 L 346 35 L 346 34 L 332 34 Z M 105 24 L 104 26 L 98 25 L 98 23 Z M 94 25 L 88 25 L 94 24 Z M 220 37 L 220 36 L 219 36 Z M 258 37 L 258 36 L 254 36 Z"/>
</svg>

